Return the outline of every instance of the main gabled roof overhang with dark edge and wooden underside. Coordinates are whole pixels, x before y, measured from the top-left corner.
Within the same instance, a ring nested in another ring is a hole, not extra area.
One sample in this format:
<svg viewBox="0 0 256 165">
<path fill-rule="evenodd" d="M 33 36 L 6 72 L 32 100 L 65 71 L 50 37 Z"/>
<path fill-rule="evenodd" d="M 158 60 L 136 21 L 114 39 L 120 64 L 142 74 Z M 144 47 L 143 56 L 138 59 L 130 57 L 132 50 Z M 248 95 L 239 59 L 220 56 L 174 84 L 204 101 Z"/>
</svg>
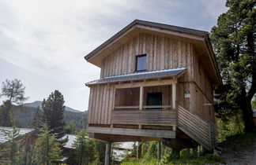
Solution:
<svg viewBox="0 0 256 165">
<path fill-rule="evenodd" d="M 207 31 L 198 31 L 168 24 L 158 24 L 145 20 L 134 20 L 106 42 L 92 50 L 91 53 L 88 53 L 88 55 L 85 56 L 85 60 L 101 68 L 104 57 L 140 33 L 149 33 L 192 43 L 195 50 L 200 55 L 199 58 L 206 66 L 205 68 L 207 68 L 206 72 L 214 73 L 214 75 L 209 74 L 209 77 L 213 79 L 213 82 L 216 84 L 222 83 L 220 71 L 216 64 L 215 55 Z"/>
</svg>

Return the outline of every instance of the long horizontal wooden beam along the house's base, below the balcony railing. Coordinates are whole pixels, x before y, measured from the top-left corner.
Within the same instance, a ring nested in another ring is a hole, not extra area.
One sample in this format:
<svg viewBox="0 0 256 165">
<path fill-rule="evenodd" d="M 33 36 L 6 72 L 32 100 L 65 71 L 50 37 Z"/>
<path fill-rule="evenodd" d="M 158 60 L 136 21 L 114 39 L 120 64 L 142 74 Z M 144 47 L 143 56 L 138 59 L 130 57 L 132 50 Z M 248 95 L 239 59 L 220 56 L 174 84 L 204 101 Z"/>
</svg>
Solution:
<svg viewBox="0 0 256 165">
<path fill-rule="evenodd" d="M 139 130 L 128 128 L 109 128 L 109 127 L 87 127 L 88 133 L 99 134 L 121 134 L 130 136 L 141 137 L 154 137 L 154 138 L 175 138 L 176 133 L 173 130 Z"/>
</svg>

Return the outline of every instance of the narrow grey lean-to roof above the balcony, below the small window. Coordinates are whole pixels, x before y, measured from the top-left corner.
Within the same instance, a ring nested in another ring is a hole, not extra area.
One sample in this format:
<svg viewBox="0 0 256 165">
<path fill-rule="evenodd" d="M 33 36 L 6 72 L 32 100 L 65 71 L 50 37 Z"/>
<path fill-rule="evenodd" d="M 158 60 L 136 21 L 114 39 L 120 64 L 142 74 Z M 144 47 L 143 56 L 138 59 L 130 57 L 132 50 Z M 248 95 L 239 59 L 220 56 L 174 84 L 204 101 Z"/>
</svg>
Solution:
<svg viewBox="0 0 256 165">
<path fill-rule="evenodd" d="M 165 69 L 160 71 L 152 71 L 152 72 L 137 72 L 131 73 L 127 75 L 114 75 L 110 77 L 104 77 L 103 79 L 97 79 L 90 83 L 86 83 L 86 85 L 93 85 L 99 83 L 115 83 L 115 82 L 125 82 L 131 80 L 139 80 L 139 79 L 152 79 L 152 78 L 163 78 L 167 76 L 180 76 L 186 71 L 186 68 L 172 68 Z"/>
</svg>

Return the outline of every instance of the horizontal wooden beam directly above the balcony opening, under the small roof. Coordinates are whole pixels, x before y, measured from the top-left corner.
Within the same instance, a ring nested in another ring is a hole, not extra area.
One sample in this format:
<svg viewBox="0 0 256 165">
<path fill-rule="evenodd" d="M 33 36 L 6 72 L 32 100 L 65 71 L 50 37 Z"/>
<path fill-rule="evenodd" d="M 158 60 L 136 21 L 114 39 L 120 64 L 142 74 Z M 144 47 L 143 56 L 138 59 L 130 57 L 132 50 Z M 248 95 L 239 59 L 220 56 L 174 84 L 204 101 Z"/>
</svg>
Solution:
<svg viewBox="0 0 256 165">
<path fill-rule="evenodd" d="M 163 79 L 163 80 L 156 80 L 156 81 L 145 81 L 140 83 L 121 83 L 115 85 L 115 89 L 122 89 L 122 88 L 134 88 L 134 87 L 141 87 L 141 86 L 167 86 L 173 83 L 178 83 L 177 79 Z"/>
</svg>

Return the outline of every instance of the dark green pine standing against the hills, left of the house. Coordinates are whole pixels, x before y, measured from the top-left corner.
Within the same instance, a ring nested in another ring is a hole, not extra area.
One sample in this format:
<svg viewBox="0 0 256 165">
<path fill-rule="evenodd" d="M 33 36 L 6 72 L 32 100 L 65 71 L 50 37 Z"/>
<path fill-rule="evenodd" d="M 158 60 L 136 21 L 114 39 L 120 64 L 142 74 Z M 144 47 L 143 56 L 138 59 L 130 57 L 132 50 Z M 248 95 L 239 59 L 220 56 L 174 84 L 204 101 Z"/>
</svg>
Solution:
<svg viewBox="0 0 256 165">
<path fill-rule="evenodd" d="M 55 90 L 47 100 L 43 99 L 42 109 L 47 126 L 53 130 L 52 132 L 56 134 L 56 138 L 62 138 L 65 134 L 63 95 L 58 90 Z"/>
</svg>

